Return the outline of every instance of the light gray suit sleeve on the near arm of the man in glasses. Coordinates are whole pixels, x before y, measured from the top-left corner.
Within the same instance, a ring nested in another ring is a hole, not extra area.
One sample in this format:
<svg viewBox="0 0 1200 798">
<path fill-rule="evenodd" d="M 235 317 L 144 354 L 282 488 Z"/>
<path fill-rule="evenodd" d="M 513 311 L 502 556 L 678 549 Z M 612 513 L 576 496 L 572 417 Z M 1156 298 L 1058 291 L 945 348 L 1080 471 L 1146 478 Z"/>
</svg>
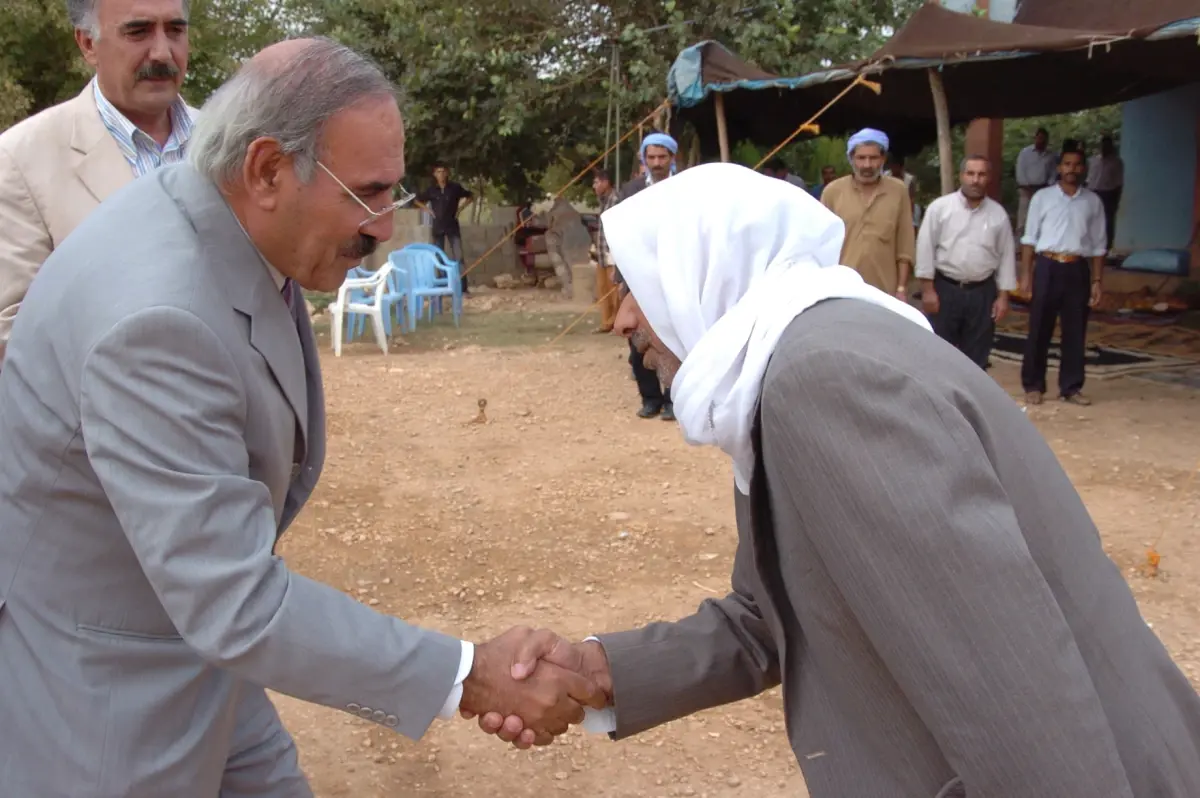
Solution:
<svg viewBox="0 0 1200 798">
<path fill-rule="evenodd" d="M 271 497 L 250 478 L 246 386 L 204 323 L 175 308 L 122 319 L 86 358 L 79 403 L 91 466 L 197 654 L 424 734 L 454 685 L 460 641 L 377 613 L 272 553 Z"/>
</svg>

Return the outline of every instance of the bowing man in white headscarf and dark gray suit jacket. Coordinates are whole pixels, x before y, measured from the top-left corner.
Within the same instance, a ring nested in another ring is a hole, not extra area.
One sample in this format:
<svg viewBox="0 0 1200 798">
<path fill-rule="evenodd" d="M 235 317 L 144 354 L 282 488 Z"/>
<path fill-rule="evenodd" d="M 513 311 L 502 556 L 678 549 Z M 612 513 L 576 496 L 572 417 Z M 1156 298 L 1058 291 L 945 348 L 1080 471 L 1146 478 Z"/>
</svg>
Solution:
<svg viewBox="0 0 1200 798">
<path fill-rule="evenodd" d="M 754 203 L 746 203 L 754 197 Z M 670 218 L 671 223 L 662 223 Z M 617 329 L 733 461 L 732 592 L 674 623 L 526 647 L 625 738 L 780 683 L 812 798 L 1200 796 L 1200 698 L 1054 452 L 842 224 L 732 164 L 607 211 Z M 518 718 L 485 731 L 521 745 Z M 523 737 L 524 736 L 524 737 Z"/>
</svg>

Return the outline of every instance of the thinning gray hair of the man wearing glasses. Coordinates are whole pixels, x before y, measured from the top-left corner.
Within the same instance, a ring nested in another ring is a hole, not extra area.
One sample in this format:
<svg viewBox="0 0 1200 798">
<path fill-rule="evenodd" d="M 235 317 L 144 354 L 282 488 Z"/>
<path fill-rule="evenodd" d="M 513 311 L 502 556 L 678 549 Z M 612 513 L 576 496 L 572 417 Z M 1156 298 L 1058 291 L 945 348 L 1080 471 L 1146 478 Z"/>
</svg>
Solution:
<svg viewBox="0 0 1200 798">
<path fill-rule="evenodd" d="M 214 92 L 192 131 L 188 161 L 217 184 L 241 173 L 246 150 L 272 138 L 307 182 L 317 170 L 325 125 L 372 98 L 397 100 L 379 67 L 344 44 L 317 37 L 286 60 L 252 60 Z"/>
</svg>

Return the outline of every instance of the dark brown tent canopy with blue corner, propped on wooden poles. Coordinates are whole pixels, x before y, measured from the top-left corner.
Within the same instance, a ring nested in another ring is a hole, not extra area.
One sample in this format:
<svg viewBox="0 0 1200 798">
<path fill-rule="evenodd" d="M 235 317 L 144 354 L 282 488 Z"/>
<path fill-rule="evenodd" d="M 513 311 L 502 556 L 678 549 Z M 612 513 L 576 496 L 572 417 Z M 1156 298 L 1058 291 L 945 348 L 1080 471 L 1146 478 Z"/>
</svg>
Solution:
<svg viewBox="0 0 1200 798">
<path fill-rule="evenodd" d="M 725 95 L 731 142 L 774 145 L 864 74 L 883 86 L 882 94 L 856 86 L 817 120 L 821 132 L 878 127 L 892 137 L 893 150 L 911 154 L 937 137 L 928 68 L 941 72 L 954 125 L 1096 108 L 1200 78 L 1200 0 L 1138 0 L 1120 13 L 1104 10 L 1112 19 L 1075 10 L 1108 5 L 1096 0 L 1039 1 L 1069 7 L 1069 18 L 1105 29 L 1000 23 L 930 0 L 864 61 L 781 77 L 716 42 L 702 42 L 680 53 L 668 91 L 677 118 L 696 127 L 703 155 L 713 157 L 719 149 L 715 92 Z M 1022 11 L 1028 5 L 1037 8 L 1026 0 Z M 1165 17 L 1175 18 L 1164 23 Z M 1116 23 L 1128 26 L 1114 28 Z"/>
</svg>

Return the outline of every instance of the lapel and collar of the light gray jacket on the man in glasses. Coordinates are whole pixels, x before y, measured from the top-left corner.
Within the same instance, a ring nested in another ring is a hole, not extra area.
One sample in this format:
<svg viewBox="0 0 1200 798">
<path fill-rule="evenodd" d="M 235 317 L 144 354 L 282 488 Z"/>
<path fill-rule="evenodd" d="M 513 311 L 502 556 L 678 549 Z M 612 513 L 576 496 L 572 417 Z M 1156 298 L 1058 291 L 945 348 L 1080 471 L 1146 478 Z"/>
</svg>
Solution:
<svg viewBox="0 0 1200 798">
<path fill-rule="evenodd" d="M 212 181 L 186 163 L 163 167 L 155 174 L 205 242 L 204 260 L 212 268 L 214 278 L 229 302 L 250 319 L 250 344 L 263 355 L 292 406 L 301 446 L 295 456 L 304 457 L 308 445 L 308 389 L 298 328 L 308 322 L 306 318 L 298 320 L 302 318 L 299 306 L 304 304 L 299 287 L 292 284 L 298 311 L 298 318 L 293 318 L 263 256 Z"/>
</svg>

